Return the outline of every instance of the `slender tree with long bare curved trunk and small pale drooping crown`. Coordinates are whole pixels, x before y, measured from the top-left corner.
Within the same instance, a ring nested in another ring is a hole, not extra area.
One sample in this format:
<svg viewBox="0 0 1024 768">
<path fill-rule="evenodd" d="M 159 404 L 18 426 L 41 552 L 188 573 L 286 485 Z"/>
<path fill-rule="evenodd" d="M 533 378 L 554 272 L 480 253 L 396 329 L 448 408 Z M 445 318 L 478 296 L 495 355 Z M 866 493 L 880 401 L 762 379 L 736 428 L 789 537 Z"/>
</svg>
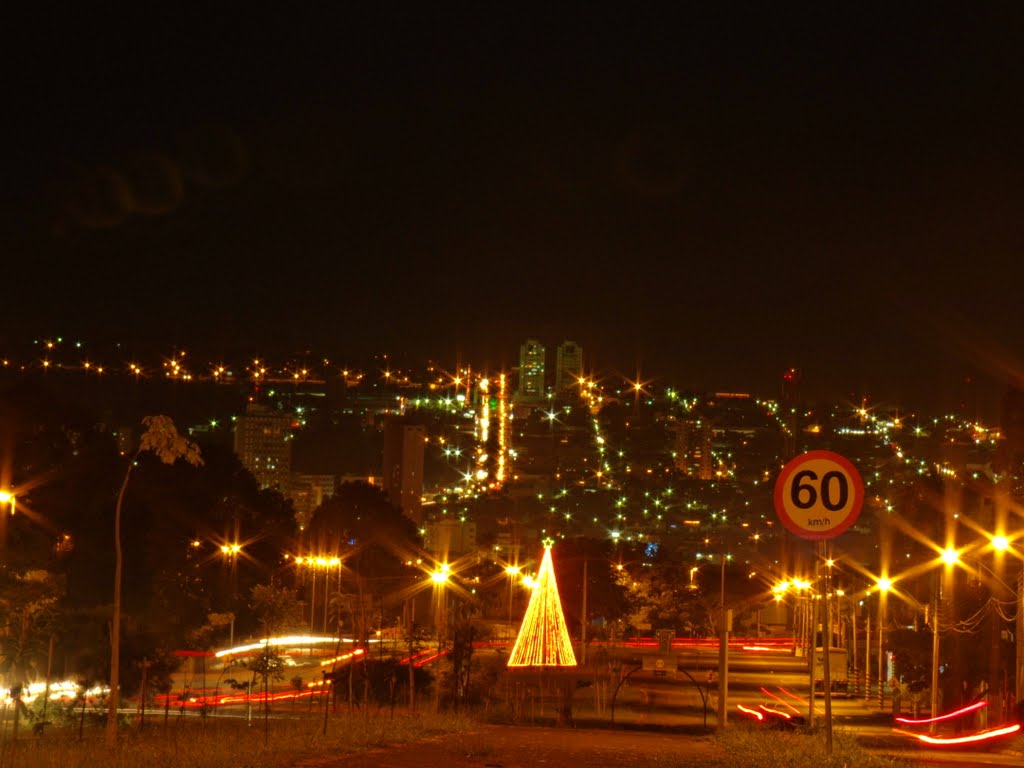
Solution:
<svg viewBox="0 0 1024 768">
<path fill-rule="evenodd" d="M 196 443 L 178 434 L 174 422 L 167 416 L 146 416 L 142 419 L 145 431 L 139 440 L 138 447 L 128 462 L 121 490 L 118 493 L 117 506 L 114 511 L 114 617 L 111 622 L 111 694 L 106 711 L 106 743 L 114 745 L 118 740 L 118 705 L 120 695 L 118 686 L 119 668 L 121 666 L 121 512 L 124 505 L 128 480 L 132 468 L 143 453 L 152 453 L 164 464 L 174 464 L 183 459 L 194 467 L 203 464 L 199 447 Z"/>
</svg>

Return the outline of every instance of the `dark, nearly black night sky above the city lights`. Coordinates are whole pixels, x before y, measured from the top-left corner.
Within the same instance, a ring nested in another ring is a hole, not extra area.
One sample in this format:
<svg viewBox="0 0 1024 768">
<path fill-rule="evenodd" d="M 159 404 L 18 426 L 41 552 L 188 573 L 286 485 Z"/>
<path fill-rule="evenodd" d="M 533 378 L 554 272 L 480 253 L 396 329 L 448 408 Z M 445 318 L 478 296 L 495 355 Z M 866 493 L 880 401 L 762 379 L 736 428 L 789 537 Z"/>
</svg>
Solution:
<svg viewBox="0 0 1024 768">
<path fill-rule="evenodd" d="M 0 342 L 1024 371 L 1024 4 L 175 5 L 8 31 Z"/>
</svg>

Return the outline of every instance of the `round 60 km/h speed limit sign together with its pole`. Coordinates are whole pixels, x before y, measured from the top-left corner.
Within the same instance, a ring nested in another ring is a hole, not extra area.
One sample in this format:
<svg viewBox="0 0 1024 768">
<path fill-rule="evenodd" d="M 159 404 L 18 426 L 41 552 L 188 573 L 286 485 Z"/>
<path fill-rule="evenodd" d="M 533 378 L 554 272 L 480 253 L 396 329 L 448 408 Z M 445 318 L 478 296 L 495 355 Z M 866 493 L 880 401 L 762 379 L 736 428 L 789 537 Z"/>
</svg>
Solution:
<svg viewBox="0 0 1024 768">
<path fill-rule="evenodd" d="M 775 481 L 775 513 L 782 524 L 803 539 L 824 542 L 849 528 L 864 504 L 864 483 L 847 459 L 831 451 L 801 454 L 782 467 Z M 819 556 L 820 556 L 819 551 Z M 828 564 L 831 564 L 829 560 Z M 817 567 L 815 567 L 817 571 Z M 830 567 L 825 569 L 824 622 L 821 632 L 822 688 L 825 697 L 825 735 L 831 755 L 831 627 L 828 618 Z M 814 718 L 814 659 L 817 657 L 817 623 L 811 627 L 810 718 Z"/>
</svg>

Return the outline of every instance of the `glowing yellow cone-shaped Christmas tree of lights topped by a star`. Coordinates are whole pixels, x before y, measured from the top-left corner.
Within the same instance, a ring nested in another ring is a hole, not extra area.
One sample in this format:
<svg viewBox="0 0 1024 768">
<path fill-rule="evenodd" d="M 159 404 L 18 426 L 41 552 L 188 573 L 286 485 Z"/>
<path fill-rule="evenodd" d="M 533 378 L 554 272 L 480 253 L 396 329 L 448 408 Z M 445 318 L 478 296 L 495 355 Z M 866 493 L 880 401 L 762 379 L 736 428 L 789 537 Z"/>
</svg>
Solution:
<svg viewBox="0 0 1024 768">
<path fill-rule="evenodd" d="M 558 597 L 551 545 L 545 544 L 537 586 L 512 646 L 509 667 L 575 667 L 572 641 Z"/>
</svg>

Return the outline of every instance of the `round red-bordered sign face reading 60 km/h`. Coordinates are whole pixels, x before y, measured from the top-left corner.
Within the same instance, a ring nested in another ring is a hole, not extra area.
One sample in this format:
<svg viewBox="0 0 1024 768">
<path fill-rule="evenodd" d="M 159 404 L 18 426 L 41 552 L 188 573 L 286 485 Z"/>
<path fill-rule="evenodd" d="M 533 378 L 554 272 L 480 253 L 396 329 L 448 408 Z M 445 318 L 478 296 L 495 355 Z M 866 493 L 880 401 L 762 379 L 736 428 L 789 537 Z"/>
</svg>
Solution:
<svg viewBox="0 0 1024 768">
<path fill-rule="evenodd" d="M 793 459 L 775 481 L 775 513 L 804 539 L 831 539 L 853 525 L 864 504 L 864 483 L 847 459 L 810 451 Z"/>
</svg>

